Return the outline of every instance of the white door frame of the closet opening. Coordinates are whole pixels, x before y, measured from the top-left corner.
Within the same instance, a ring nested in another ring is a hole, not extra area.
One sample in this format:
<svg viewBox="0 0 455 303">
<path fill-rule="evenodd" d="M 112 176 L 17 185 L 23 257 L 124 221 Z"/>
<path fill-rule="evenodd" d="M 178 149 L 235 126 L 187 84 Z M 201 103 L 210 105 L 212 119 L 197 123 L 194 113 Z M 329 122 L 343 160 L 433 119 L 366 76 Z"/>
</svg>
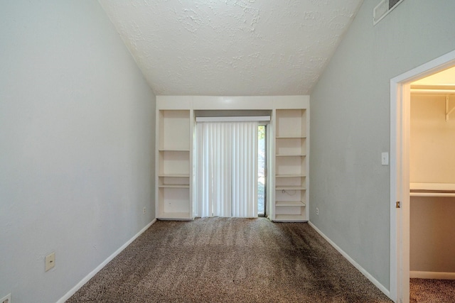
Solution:
<svg viewBox="0 0 455 303">
<path fill-rule="evenodd" d="M 399 303 L 410 301 L 410 83 L 454 65 L 455 50 L 390 80 L 390 297 Z"/>
</svg>

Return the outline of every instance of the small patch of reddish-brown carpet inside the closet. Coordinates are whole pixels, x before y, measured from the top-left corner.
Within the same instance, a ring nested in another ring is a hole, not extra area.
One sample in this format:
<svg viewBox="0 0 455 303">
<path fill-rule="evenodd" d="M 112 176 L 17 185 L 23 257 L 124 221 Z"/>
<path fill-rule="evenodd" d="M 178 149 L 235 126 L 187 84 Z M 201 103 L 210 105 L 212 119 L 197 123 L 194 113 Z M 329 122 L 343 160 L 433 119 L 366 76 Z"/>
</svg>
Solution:
<svg viewBox="0 0 455 303">
<path fill-rule="evenodd" d="M 455 280 L 410 280 L 410 303 L 455 302 Z"/>
</svg>

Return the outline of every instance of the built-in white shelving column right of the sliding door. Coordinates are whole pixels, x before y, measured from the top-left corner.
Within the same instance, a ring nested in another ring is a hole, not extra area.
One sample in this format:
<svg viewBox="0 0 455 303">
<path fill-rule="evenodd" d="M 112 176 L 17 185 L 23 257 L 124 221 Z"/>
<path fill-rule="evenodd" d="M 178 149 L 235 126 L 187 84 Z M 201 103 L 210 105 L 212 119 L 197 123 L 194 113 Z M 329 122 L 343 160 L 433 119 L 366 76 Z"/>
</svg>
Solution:
<svg viewBox="0 0 455 303">
<path fill-rule="evenodd" d="M 276 109 L 274 221 L 307 221 L 306 109 Z"/>
</svg>

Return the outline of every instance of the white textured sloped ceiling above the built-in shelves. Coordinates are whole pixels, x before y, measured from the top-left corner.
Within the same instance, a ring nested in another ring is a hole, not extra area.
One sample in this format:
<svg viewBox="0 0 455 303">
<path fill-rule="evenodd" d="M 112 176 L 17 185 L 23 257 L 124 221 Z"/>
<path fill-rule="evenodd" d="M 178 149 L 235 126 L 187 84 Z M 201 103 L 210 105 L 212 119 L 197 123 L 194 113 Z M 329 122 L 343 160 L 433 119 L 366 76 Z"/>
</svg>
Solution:
<svg viewBox="0 0 455 303">
<path fill-rule="evenodd" d="M 157 95 L 309 94 L 361 0 L 100 0 Z"/>
</svg>

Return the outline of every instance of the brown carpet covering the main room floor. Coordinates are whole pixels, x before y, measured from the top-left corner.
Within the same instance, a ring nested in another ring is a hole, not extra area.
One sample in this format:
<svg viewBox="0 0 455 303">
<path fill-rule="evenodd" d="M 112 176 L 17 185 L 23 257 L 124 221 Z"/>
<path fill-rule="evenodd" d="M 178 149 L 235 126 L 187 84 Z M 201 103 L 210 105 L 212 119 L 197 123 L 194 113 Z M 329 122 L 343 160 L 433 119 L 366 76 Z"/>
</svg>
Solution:
<svg viewBox="0 0 455 303">
<path fill-rule="evenodd" d="M 392 302 L 309 224 L 157 221 L 67 302 Z"/>
</svg>

